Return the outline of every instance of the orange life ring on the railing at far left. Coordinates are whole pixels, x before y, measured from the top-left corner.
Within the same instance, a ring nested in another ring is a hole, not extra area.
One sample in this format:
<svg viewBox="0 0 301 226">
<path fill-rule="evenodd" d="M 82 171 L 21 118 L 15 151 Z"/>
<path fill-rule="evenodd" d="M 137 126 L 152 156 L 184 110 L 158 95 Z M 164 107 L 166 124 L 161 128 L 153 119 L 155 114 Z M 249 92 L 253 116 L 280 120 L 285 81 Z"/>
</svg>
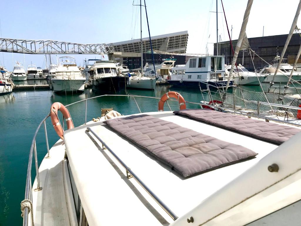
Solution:
<svg viewBox="0 0 301 226">
<path fill-rule="evenodd" d="M 68 130 L 74 128 L 74 124 L 68 109 L 63 104 L 61 104 L 60 102 L 55 102 L 51 105 L 50 118 L 51 118 L 52 125 L 57 135 L 61 137 L 61 139 L 64 139 L 63 137 L 64 130 L 57 115 L 58 110 L 60 110 L 63 113 L 64 118 L 66 119 L 67 122 Z"/>
</svg>

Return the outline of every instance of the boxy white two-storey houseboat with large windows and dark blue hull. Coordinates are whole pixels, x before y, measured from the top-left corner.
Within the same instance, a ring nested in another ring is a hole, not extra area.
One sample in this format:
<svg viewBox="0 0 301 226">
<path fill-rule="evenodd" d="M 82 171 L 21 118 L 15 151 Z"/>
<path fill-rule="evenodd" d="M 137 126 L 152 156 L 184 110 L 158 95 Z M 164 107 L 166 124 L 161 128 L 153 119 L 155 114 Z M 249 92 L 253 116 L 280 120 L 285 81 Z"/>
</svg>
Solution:
<svg viewBox="0 0 301 226">
<path fill-rule="evenodd" d="M 166 80 L 177 86 L 194 86 L 206 89 L 206 83 L 225 86 L 225 56 L 205 56 L 189 58 L 185 65 L 172 67 L 171 77 Z M 233 85 L 230 80 L 229 85 Z M 202 83 L 200 83 L 202 82 Z"/>
</svg>

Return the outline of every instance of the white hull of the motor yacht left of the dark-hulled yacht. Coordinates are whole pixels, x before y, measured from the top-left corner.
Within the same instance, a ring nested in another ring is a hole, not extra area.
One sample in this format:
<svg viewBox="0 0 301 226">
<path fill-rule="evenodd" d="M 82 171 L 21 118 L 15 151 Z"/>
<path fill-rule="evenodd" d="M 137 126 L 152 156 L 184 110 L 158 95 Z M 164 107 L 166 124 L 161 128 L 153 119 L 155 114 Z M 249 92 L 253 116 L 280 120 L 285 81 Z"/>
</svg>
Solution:
<svg viewBox="0 0 301 226">
<path fill-rule="evenodd" d="M 54 92 L 82 92 L 85 89 L 85 81 L 85 79 L 61 80 L 52 78 L 51 85 Z"/>
</svg>

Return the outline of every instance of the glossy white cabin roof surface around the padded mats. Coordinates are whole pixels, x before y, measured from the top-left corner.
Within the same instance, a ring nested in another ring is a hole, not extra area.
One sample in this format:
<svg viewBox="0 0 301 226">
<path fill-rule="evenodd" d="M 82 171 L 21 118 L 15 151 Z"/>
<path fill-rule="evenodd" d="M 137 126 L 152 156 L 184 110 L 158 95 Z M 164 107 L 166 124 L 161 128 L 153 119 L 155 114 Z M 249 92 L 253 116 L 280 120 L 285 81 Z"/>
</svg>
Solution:
<svg viewBox="0 0 301 226">
<path fill-rule="evenodd" d="M 173 220 L 133 178 L 127 179 L 125 169 L 107 150 L 102 150 L 100 142 L 92 133 L 86 131 L 86 127 L 91 127 L 178 217 L 193 209 L 277 147 L 271 143 L 176 116 L 170 111 L 144 114 L 242 145 L 259 154 L 254 159 L 185 179 L 154 159 L 144 149 L 134 146 L 126 138 L 114 133 L 102 122 L 68 130 L 64 134 L 65 146 L 89 226 L 168 225 Z"/>
</svg>

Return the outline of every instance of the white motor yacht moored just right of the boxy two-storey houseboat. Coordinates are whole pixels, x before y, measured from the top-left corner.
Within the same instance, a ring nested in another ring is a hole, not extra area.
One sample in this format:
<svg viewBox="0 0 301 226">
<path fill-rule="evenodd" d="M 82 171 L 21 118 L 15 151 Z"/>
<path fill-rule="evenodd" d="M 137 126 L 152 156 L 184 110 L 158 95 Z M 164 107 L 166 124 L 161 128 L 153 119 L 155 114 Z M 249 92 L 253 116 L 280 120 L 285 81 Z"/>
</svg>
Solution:
<svg viewBox="0 0 301 226">
<path fill-rule="evenodd" d="M 225 74 L 229 76 L 231 65 L 225 65 Z M 265 75 L 260 73 L 250 72 L 241 64 L 237 68 L 234 67 L 233 79 L 236 85 L 257 85 L 263 82 Z"/>
</svg>

